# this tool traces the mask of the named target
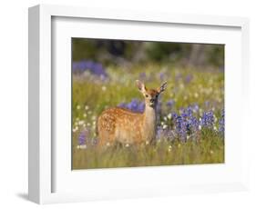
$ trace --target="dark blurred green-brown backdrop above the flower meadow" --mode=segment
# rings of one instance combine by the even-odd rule
[[[148,62],[194,66],[224,67],[224,45],[95,40],[73,38],[73,61],[91,60],[102,65],[147,64]]]

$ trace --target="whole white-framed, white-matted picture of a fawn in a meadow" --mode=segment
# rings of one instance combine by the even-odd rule
[[[242,17],[29,8],[29,199],[246,190],[248,30]]]

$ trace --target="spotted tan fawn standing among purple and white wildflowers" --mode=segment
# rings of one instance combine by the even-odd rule
[[[97,118],[99,144],[140,144],[151,143],[156,137],[158,96],[165,91],[167,82],[157,89],[147,89],[136,81],[138,90],[145,98],[144,113],[135,113],[121,107],[103,111]]]

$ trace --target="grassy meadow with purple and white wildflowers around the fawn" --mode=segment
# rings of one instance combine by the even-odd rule
[[[224,71],[159,64],[73,63],[72,169],[224,163]],[[108,107],[143,112],[135,81],[167,81],[159,97],[154,144],[97,146],[97,116]]]

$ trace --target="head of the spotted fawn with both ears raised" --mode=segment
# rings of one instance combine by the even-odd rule
[[[148,89],[141,81],[136,81],[138,90],[145,98],[145,105],[155,108],[158,104],[159,94],[166,90],[167,82],[164,82],[157,89]]]

